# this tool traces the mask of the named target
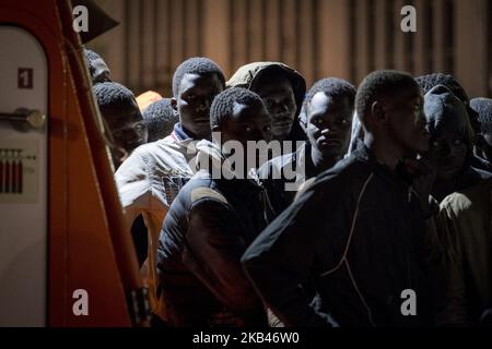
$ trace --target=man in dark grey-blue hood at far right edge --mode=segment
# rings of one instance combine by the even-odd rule
[[[435,151],[447,143],[447,152],[442,155],[441,164],[447,161],[448,170],[438,169],[441,178],[447,177],[447,188],[441,179],[438,189],[447,189],[443,194],[449,195],[441,203],[441,215],[436,220],[436,228],[440,230],[441,240],[446,243],[447,289],[453,291],[453,301],[445,304],[441,317],[452,321],[453,325],[487,323],[490,326],[492,179],[489,172],[470,166],[471,145],[470,141],[464,136],[466,134],[464,132],[466,123],[462,121],[466,120],[465,108],[448,91],[440,87],[433,88],[425,95],[425,109],[429,109],[431,135],[435,134],[434,137],[437,141],[434,145]],[[483,147],[490,135],[488,130],[490,120],[483,118],[483,109],[477,108],[477,99],[475,103],[472,100],[471,106],[479,112],[482,125],[477,145]],[[485,152],[482,148],[482,155]]]

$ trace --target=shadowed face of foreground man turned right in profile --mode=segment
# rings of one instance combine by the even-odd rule
[[[391,97],[383,98],[390,136],[403,154],[425,154],[430,134],[423,111],[423,96],[418,86],[409,86]]]

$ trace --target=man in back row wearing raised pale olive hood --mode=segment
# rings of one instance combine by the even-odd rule
[[[226,85],[250,89],[261,97],[271,116],[273,140],[306,141],[298,123],[306,82],[298,72],[280,62],[254,62],[241,67]]]

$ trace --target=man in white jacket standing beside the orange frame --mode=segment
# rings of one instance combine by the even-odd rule
[[[196,144],[210,137],[210,105],[224,87],[224,75],[210,59],[184,61],[173,76],[171,104],[179,116],[173,133],[137,148],[115,174],[128,226],[142,215],[149,231],[142,274],[149,284],[152,311],[162,320],[166,320],[166,312],[165,304],[157,301],[155,270],[159,232],[173,200],[195,172],[189,163],[196,156]]]

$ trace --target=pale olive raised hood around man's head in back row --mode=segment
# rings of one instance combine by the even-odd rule
[[[281,62],[254,62],[241,67],[234,75],[227,81],[227,87],[244,87],[250,91],[255,91],[258,81],[266,72],[279,71],[281,74],[285,74],[292,84],[294,91],[295,103],[297,105],[297,111],[295,113],[298,117],[306,94],[306,81],[294,69]]]

